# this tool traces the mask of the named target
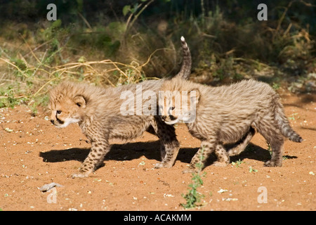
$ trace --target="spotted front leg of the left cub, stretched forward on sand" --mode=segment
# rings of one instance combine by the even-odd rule
[[[72,174],[75,177],[87,177],[103,164],[103,158],[110,151],[110,144],[106,140],[91,141],[91,150],[88,157],[79,167],[79,173]]]

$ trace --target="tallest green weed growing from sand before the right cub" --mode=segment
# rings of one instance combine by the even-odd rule
[[[189,184],[190,189],[187,191],[185,195],[182,194],[182,197],[186,200],[186,203],[181,203],[180,205],[185,209],[191,209],[202,205],[197,203],[201,202],[202,198],[204,198],[204,195],[202,193],[199,193],[197,191],[197,188],[203,185],[202,178],[206,175],[206,172],[201,174],[202,169],[204,167],[202,163],[202,160],[204,158],[203,152],[204,148],[202,148],[201,150],[199,162],[195,165],[195,167],[197,167],[197,172],[192,173],[192,183]]]

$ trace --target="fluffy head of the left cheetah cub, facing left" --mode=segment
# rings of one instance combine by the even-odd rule
[[[51,90],[48,108],[51,110],[51,123],[63,128],[81,121],[86,99],[79,94],[76,84],[63,82]]]

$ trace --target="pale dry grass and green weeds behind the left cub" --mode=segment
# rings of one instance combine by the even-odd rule
[[[28,44],[26,45],[29,50],[27,58],[23,57],[21,53],[15,58],[11,58],[8,54],[1,54],[0,68],[4,71],[0,84],[2,95],[0,105],[2,107],[13,106],[19,103],[19,99],[29,101],[34,98],[45,98],[51,86],[65,79],[100,86],[118,86],[138,83],[144,79],[157,79],[156,77],[145,77],[143,68],[150,63],[154,53],[165,50],[157,49],[152,52],[141,65],[135,61],[125,64],[110,59],[87,61],[81,57],[78,62],[53,66],[45,63],[47,51],[34,53],[32,48]],[[45,103],[45,100],[41,103]]]

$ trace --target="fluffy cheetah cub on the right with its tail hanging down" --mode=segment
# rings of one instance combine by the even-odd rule
[[[290,127],[278,94],[268,85],[243,80],[230,86],[204,86],[176,77],[164,82],[159,92],[159,115],[166,124],[185,122],[192,136],[201,140],[201,148],[192,158],[195,171],[203,150],[203,163],[215,151],[216,166],[228,165],[230,155],[238,155],[255,134],[255,129],[270,143],[271,160],[265,166],[282,166],[283,136],[301,142]],[[223,143],[237,143],[223,148]]]

